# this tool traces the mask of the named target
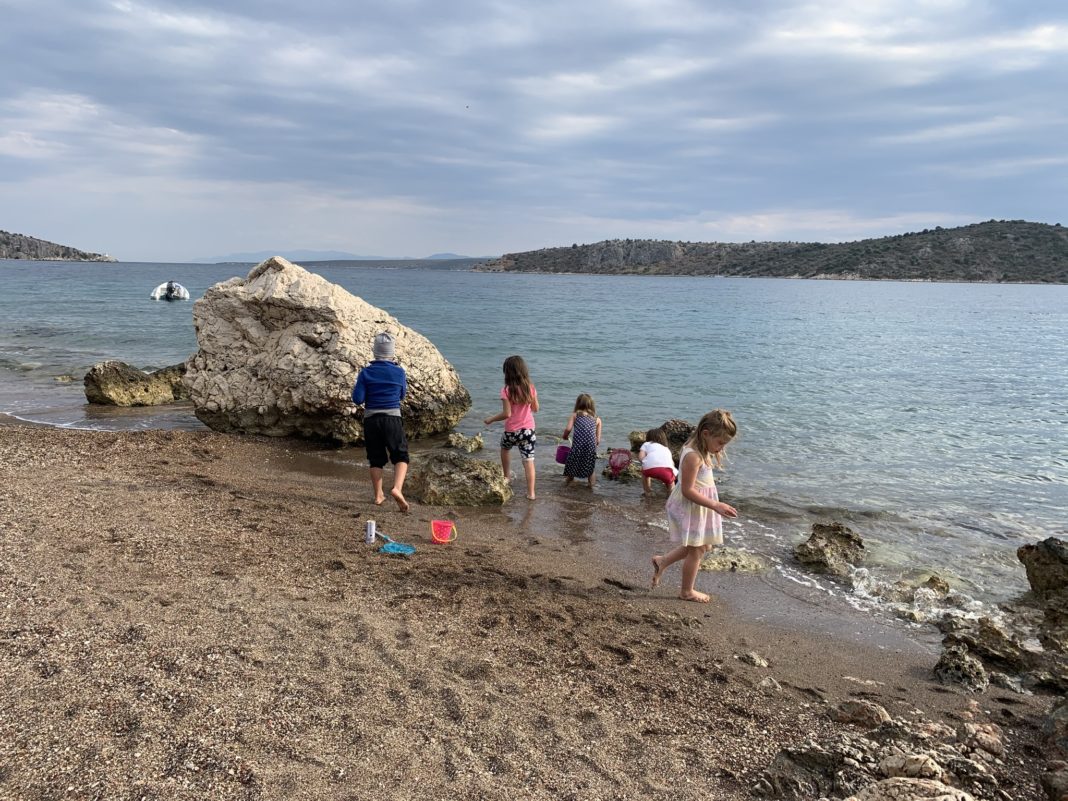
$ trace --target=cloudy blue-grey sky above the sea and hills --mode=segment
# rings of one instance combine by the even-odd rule
[[[123,261],[1068,223],[1068,5],[0,0],[0,230]]]

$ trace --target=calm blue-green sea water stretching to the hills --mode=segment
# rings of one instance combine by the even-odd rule
[[[376,263],[310,268],[429,337],[474,405],[499,409],[501,362],[538,387],[539,471],[554,470],[575,396],[606,444],[670,418],[731,409],[721,487],[734,533],[785,552],[842,520],[885,580],[934,568],[984,600],[1025,588],[1020,545],[1068,535],[1068,286],[524,276]],[[200,427],[185,407],[84,404],[81,377],[121,359],[158,367],[197,349],[191,303],[245,265],[0,261],[0,411],[79,427]],[[73,380],[69,380],[73,377]],[[500,427],[487,431],[492,444]],[[543,482],[548,478],[544,478]],[[634,488],[598,485],[626,511]]]

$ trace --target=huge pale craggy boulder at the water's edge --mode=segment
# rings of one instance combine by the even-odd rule
[[[380,331],[393,334],[408,374],[410,437],[449,430],[471,406],[429,340],[278,256],[210,287],[193,304],[193,324],[200,349],[185,381],[197,417],[216,430],[362,442],[351,390]]]

